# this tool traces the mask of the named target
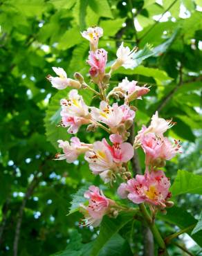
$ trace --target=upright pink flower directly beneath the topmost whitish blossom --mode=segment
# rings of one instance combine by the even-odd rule
[[[102,78],[107,63],[107,51],[104,49],[98,49],[95,52],[90,51],[87,63],[91,66],[90,74],[92,76],[97,76],[99,74]]]

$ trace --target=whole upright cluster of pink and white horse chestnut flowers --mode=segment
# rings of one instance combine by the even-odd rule
[[[107,51],[98,48],[99,39],[103,35],[102,28],[88,28],[81,35],[90,43],[86,63],[90,66],[91,82],[98,90],[86,84],[80,73],[74,74],[75,79],[68,78],[63,68],[53,67],[57,77],[48,75],[47,79],[56,89],[73,88],[69,91],[68,98],[60,100],[60,124],[67,127],[69,134],[77,134],[82,125],[87,125],[86,131],[95,131],[100,127],[109,133],[109,138],[102,138],[93,144],[83,143],[77,137],[72,137],[70,142],[58,140],[63,154],[56,154],[55,160],[66,159],[67,163],[73,163],[80,154],[84,154],[89,169],[93,174],[100,175],[104,183],[112,184],[122,179],[118,188],[120,198],[129,199],[136,204],[147,203],[153,209],[162,210],[172,203],[168,201],[171,197],[170,182],[160,167],[164,167],[165,161],[176,156],[180,149],[177,140],[172,143],[164,135],[174,122],[159,118],[156,112],[149,127],[143,126],[138,131],[134,145],[127,142],[129,128],[134,123],[137,110],[131,102],[141,99],[150,90],[146,85],[139,86],[137,81],[129,81],[127,77],[109,90],[109,81],[113,71],[120,66],[134,68],[138,49],[130,50],[122,43],[116,53],[117,59],[111,65],[109,73],[106,73]],[[100,106],[88,106],[78,90],[93,91],[100,98]],[[112,98],[118,102],[114,102]],[[145,152],[145,174],[132,178],[128,162],[133,158],[137,147]],[[105,214],[116,217],[123,209],[94,185],[89,187],[84,197],[89,201],[88,204],[80,205],[80,211],[85,216],[85,226],[98,226]]]

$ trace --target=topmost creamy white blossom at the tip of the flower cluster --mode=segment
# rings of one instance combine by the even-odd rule
[[[88,28],[86,31],[83,31],[82,37],[86,38],[90,42],[91,51],[95,51],[98,48],[99,38],[103,35],[103,29],[100,27]]]

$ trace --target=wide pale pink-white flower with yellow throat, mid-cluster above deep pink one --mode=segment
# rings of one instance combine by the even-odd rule
[[[127,104],[119,107],[118,103],[114,103],[110,106],[107,102],[102,101],[100,102],[100,109],[91,108],[91,116],[94,120],[108,125],[111,131],[116,133],[118,125],[125,123],[126,120],[133,121],[135,112]]]

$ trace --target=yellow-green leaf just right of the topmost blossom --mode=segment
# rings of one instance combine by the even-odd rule
[[[122,28],[122,24],[125,22],[125,19],[126,18],[100,21],[100,27],[103,28],[104,35],[116,35],[116,33],[118,33],[118,30]]]

